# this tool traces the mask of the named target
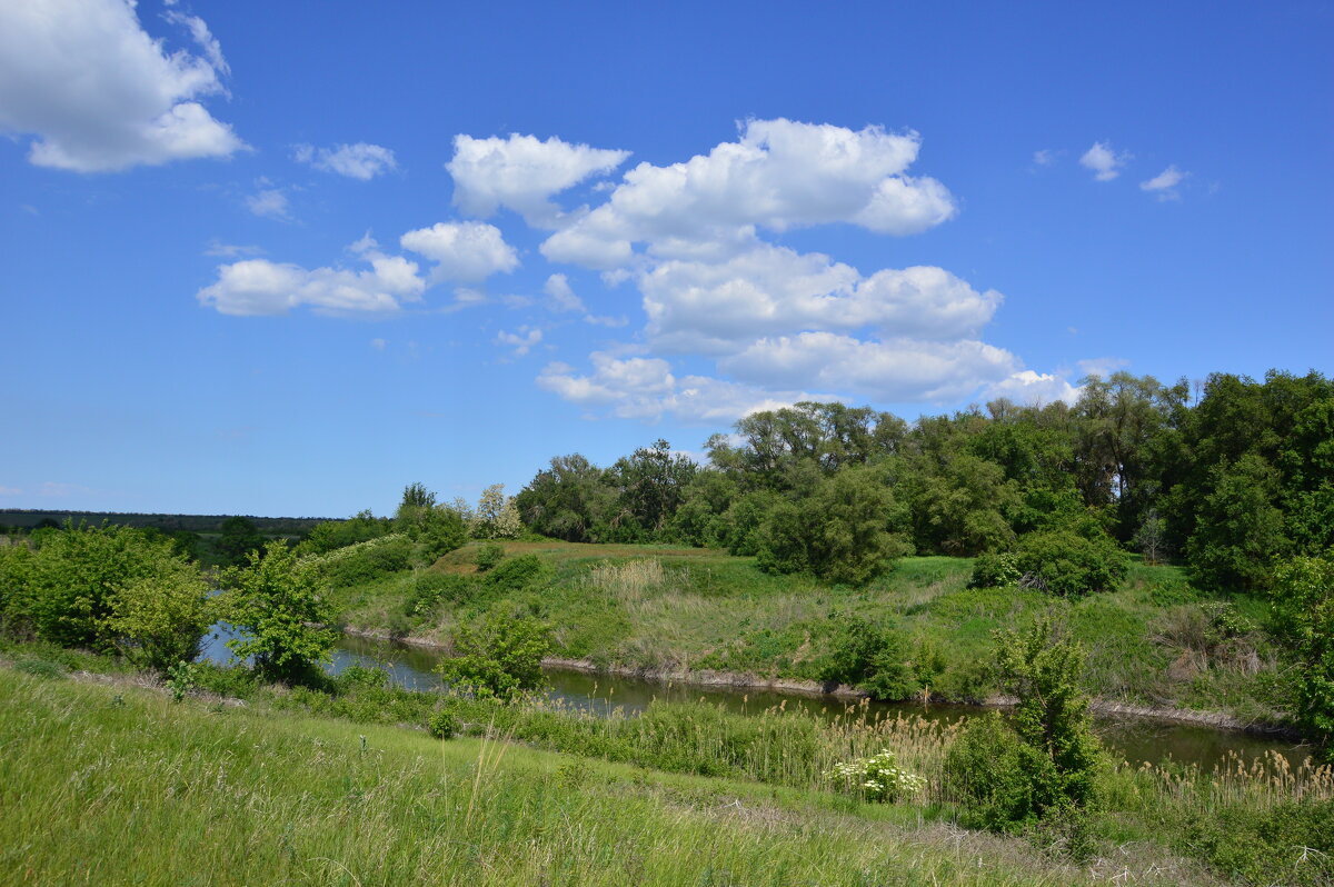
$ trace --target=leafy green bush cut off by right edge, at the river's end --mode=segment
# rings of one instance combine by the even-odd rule
[[[1274,568],[1274,628],[1298,663],[1297,714],[1325,742],[1334,740],[1334,550]]]

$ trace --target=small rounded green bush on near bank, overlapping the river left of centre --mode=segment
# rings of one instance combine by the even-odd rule
[[[544,623],[492,611],[456,628],[454,658],[442,660],[436,671],[476,696],[508,700],[544,684],[542,659],[550,650],[551,631]]]

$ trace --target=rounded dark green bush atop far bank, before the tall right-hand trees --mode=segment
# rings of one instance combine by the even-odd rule
[[[1014,556],[1022,584],[1057,595],[1114,591],[1130,570],[1126,552],[1105,534],[1034,532],[1019,539]]]

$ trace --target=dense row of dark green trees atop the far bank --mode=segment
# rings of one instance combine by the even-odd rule
[[[799,403],[707,452],[696,466],[658,440],[606,470],[558,456],[515,503],[570,542],[720,547],[854,584],[904,552],[1014,551],[1079,594],[1114,584],[1129,548],[1251,590],[1277,556],[1334,546],[1334,381],[1317,372],[1195,388],[1119,372],[1086,379],[1074,405],[996,400],[912,424]]]

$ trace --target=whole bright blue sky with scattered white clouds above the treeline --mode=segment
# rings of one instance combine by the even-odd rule
[[[0,8],[0,507],[1334,372],[1334,7]]]

